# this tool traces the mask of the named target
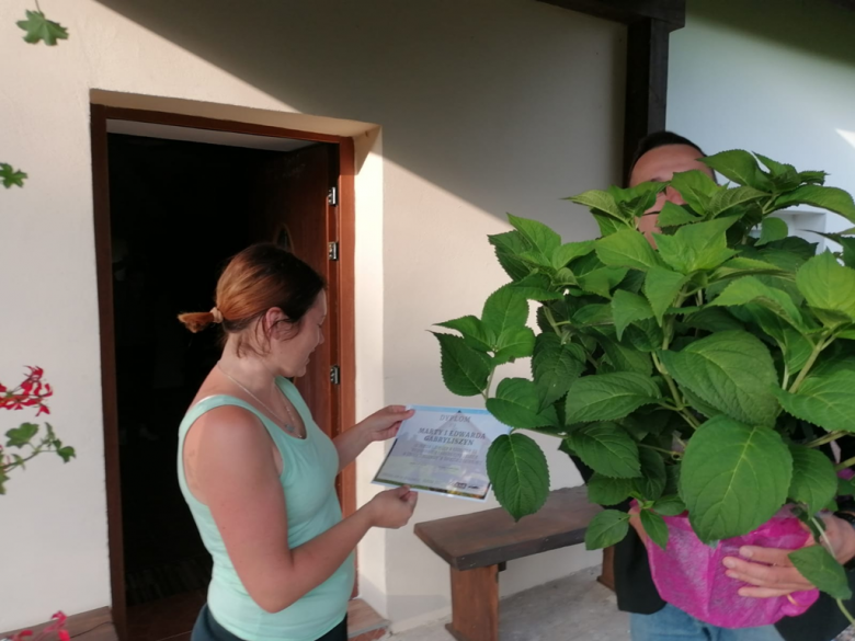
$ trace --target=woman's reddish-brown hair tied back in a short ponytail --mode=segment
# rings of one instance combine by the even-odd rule
[[[269,309],[281,309],[296,328],[324,287],[323,277],[289,251],[273,243],[253,244],[226,265],[214,309],[178,318],[194,333],[214,323],[221,323],[226,334],[255,325],[269,341],[272,328],[263,323]]]

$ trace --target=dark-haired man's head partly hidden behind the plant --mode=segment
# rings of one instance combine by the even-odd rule
[[[666,182],[675,173],[697,169],[716,180],[711,169],[700,162],[705,153],[700,148],[683,136],[671,131],[657,131],[641,139],[629,169],[628,183],[634,187],[645,182]],[[657,197],[656,204],[638,220],[638,229],[648,238],[659,231],[657,218],[665,202],[684,205],[685,201],[673,187],[668,187]]]

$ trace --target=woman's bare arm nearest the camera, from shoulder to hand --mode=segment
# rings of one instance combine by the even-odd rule
[[[263,425],[232,408],[214,410],[197,423],[203,421],[194,426],[204,430],[195,481],[238,576],[266,611],[285,609],[331,576],[371,527],[401,527],[412,515],[414,493],[407,488],[383,492],[326,533],[289,549],[285,496]]]

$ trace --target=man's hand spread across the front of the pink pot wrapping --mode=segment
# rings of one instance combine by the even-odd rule
[[[855,529],[831,514],[823,516],[822,520],[837,561],[847,563],[855,558]],[[806,545],[816,545],[813,537],[808,537]],[[740,588],[741,596],[770,598],[813,590],[814,585],[793,566],[790,552],[793,550],[743,546],[739,550],[741,559],[726,557],[722,562],[728,576],[750,584]]]

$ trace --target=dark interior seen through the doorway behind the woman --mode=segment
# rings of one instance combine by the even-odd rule
[[[219,357],[219,333],[190,334],[175,317],[210,309],[225,262],[252,242],[282,243],[327,272],[335,150],[327,144],[285,152],[109,136],[130,641],[166,638],[169,630],[145,633],[152,604],[192,595],[182,603],[197,611],[210,575],[179,490],[175,456],[179,423]],[[334,307],[330,300],[330,316]],[[297,381],[327,432],[335,412],[329,382],[334,347],[324,344],[312,369]],[[135,617],[144,605],[145,616]]]

